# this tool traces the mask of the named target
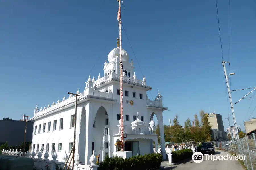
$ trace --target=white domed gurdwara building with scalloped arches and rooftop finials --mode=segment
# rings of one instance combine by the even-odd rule
[[[113,156],[119,151],[117,145],[121,140],[120,115],[120,48],[114,48],[108,54],[108,63],[104,63],[104,75],[100,73],[97,80],[89,76],[85,90],[77,91],[77,124],[75,161],[90,165],[89,159],[93,150],[100,154],[99,160],[106,155]],[[161,149],[165,150],[162,96],[160,93],[154,101],[148,99],[146,92],[152,90],[143,80],[137,79],[134,64],[125,50],[122,49],[123,64],[123,124],[125,151],[133,155],[153,153],[153,141],[158,149],[156,124],[152,117],[156,115],[160,130]],[[56,151],[61,160],[73,147],[75,126],[76,97],[64,96],[63,100],[53,102],[43,109],[36,109],[34,121],[32,151],[49,153],[49,158]],[[157,151],[157,150],[156,150]],[[163,159],[166,153],[162,152]],[[65,156],[64,156],[65,157]]]

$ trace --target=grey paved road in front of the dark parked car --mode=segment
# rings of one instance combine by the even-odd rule
[[[215,155],[227,155],[228,152],[217,152]],[[163,162],[162,166],[166,170],[174,169],[174,170],[184,170],[184,169],[189,169],[189,170],[218,170],[218,169],[225,169],[225,170],[244,170],[243,167],[240,165],[240,163],[236,160],[206,160],[206,156],[204,156],[204,160],[201,163],[195,163],[192,160],[179,163],[176,165],[167,165],[166,163],[168,162]]]

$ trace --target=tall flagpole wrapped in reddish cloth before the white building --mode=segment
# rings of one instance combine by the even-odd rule
[[[117,20],[119,24],[119,40],[120,40],[120,108],[121,108],[121,151],[123,151],[123,68],[122,68],[122,41],[121,41],[121,0],[117,0],[119,9]]]

